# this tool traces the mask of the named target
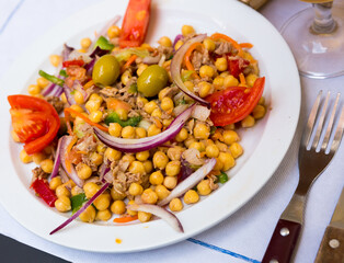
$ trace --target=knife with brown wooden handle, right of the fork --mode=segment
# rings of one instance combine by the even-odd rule
[[[344,187],[314,263],[344,263]]]

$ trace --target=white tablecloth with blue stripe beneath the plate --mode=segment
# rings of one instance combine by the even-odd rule
[[[95,2],[94,0],[1,0],[0,78],[8,66],[36,37],[80,8]],[[289,16],[308,7],[308,3],[296,0],[271,0],[260,12],[279,28]],[[288,78],[288,72],[285,75]],[[131,254],[77,251],[33,235],[11,218],[1,205],[0,232],[72,262],[260,262],[278,217],[288,204],[298,182],[298,142],[312,102],[320,89],[334,92],[343,90],[343,77],[330,80],[301,78],[302,106],[299,127],[280,167],[246,205],[218,226],[194,239],[158,250]],[[332,164],[312,186],[295,262],[313,262],[316,258],[323,231],[343,187],[343,158],[344,152],[341,147]]]

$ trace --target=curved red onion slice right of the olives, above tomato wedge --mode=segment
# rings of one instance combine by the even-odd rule
[[[172,61],[171,61],[171,77],[173,82],[183,91],[186,95],[194,99],[195,101],[199,102],[203,105],[210,106],[209,102],[200,99],[195,93],[191,92],[184,84],[182,77],[181,77],[181,68],[184,60],[185,53],[190,48],[190,46],[196,42],[202,42],[206,38],[206,34],[202,34],[188,39],[183,46],[181,46],[177,52],[174,54]]]

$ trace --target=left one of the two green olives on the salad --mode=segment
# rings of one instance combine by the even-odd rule
[[[95,84],[111,85],[119,76],[119,64],[112,55],[102,56],[93,67],[92,79]]]

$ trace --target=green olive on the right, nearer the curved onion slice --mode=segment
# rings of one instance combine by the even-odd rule
[[[158,65],[149,66],[137,79],[137,90],[145,96],[154,96],[167,87],[169,75]]]

